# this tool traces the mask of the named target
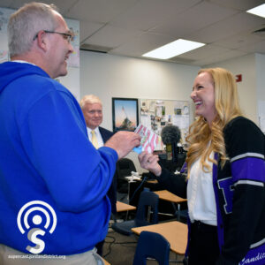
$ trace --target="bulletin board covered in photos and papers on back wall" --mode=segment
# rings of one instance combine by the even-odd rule
[[[186,145],[190,125],[188,101],[140,99],[140,124],[161,135],[166,125],[176,125],[181,131],[181,144]]]

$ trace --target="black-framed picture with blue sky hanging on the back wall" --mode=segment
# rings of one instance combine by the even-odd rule
[[[139,124],[138,99],[112,97],[113,132],[133,132]]]

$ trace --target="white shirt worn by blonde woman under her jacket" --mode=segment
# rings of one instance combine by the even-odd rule
[[[214,158],[214,152],[210,158]],[[213,186],[213,163],[208,161],[210,172],[201,168],[200,158],[191,167],[191,174],[187,185],[187,201],[191,222],[201,221],[210,225],[217,225],[216,197]]]

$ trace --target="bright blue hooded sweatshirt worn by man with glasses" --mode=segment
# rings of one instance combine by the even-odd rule
[[[33,64],[0,64],[1,244],[28,253],[40,239],[41,254],[92,249],[107,234],[116,162],[115,150],[90,143],[64,86]],[[34,229],[43,231],[35,239]]]

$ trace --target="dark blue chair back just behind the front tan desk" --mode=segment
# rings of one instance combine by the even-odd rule
[[[155,193],[145,190],[140,193],[135,216],[136,226],[158,223],[158,201],[159,196]],[[150,215],[151,212],[152,215]],[[150,218],[149,220],[148,217]]]

